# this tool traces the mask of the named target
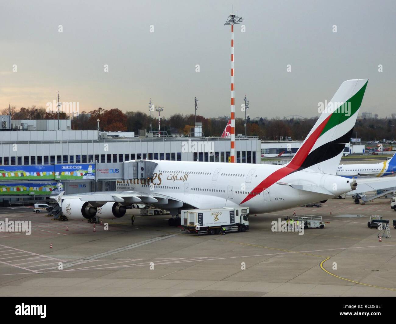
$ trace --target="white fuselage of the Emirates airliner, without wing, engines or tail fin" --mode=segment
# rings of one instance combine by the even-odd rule
[[[330,174],[305,170],[274,176],[274,172],[284,168],[279,165],[154,162],[158,165],[150,180],[118,180],[117,191],[160,194],[200,209],[245,206],[253,213],[287,209],[331,197],[329,194],[295,189],[289,184],[320,186],[334,195],[350,191],[346,178]],[[264,191],[258,189],[253,197],[249,196],[251,198],[244,201],[267,177],[279,179]]]

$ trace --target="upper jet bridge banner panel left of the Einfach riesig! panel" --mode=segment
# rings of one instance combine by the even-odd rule
[[[53,165],[1,165],[1,180],[54,180]]]

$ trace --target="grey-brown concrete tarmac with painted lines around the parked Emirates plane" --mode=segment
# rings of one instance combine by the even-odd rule
[[[396,229],[379,242],[367,227],[370,215],[396,219],[390,199],[298,207],[326,227],[271,230],[293,212],[251,215],[245,233],[195,235],[137,210],[94,232],[86,220],[3,207],[0,221],[31,220],[32,233],[0,232],[0,296],[396,296]]]

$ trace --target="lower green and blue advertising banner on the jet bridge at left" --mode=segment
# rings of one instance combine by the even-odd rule
[[[57,182],[0,183],[2,195],[57,195],[60,191]]]

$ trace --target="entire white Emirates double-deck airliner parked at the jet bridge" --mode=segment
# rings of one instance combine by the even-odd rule
[[[366,86],[367,79],[343,82],[326,107],[333,109],[322,112],[286,165],[145,160],[149,177],[117,180],[112,192],[61,193],[54,199],[65,216],[79,220],[119,218],[128,205],[145,203],[169,210],[175,216],[170,225],[188,208],[244,206],[258,214],[325,201],[356,189],[360,181],[336,173]]]

